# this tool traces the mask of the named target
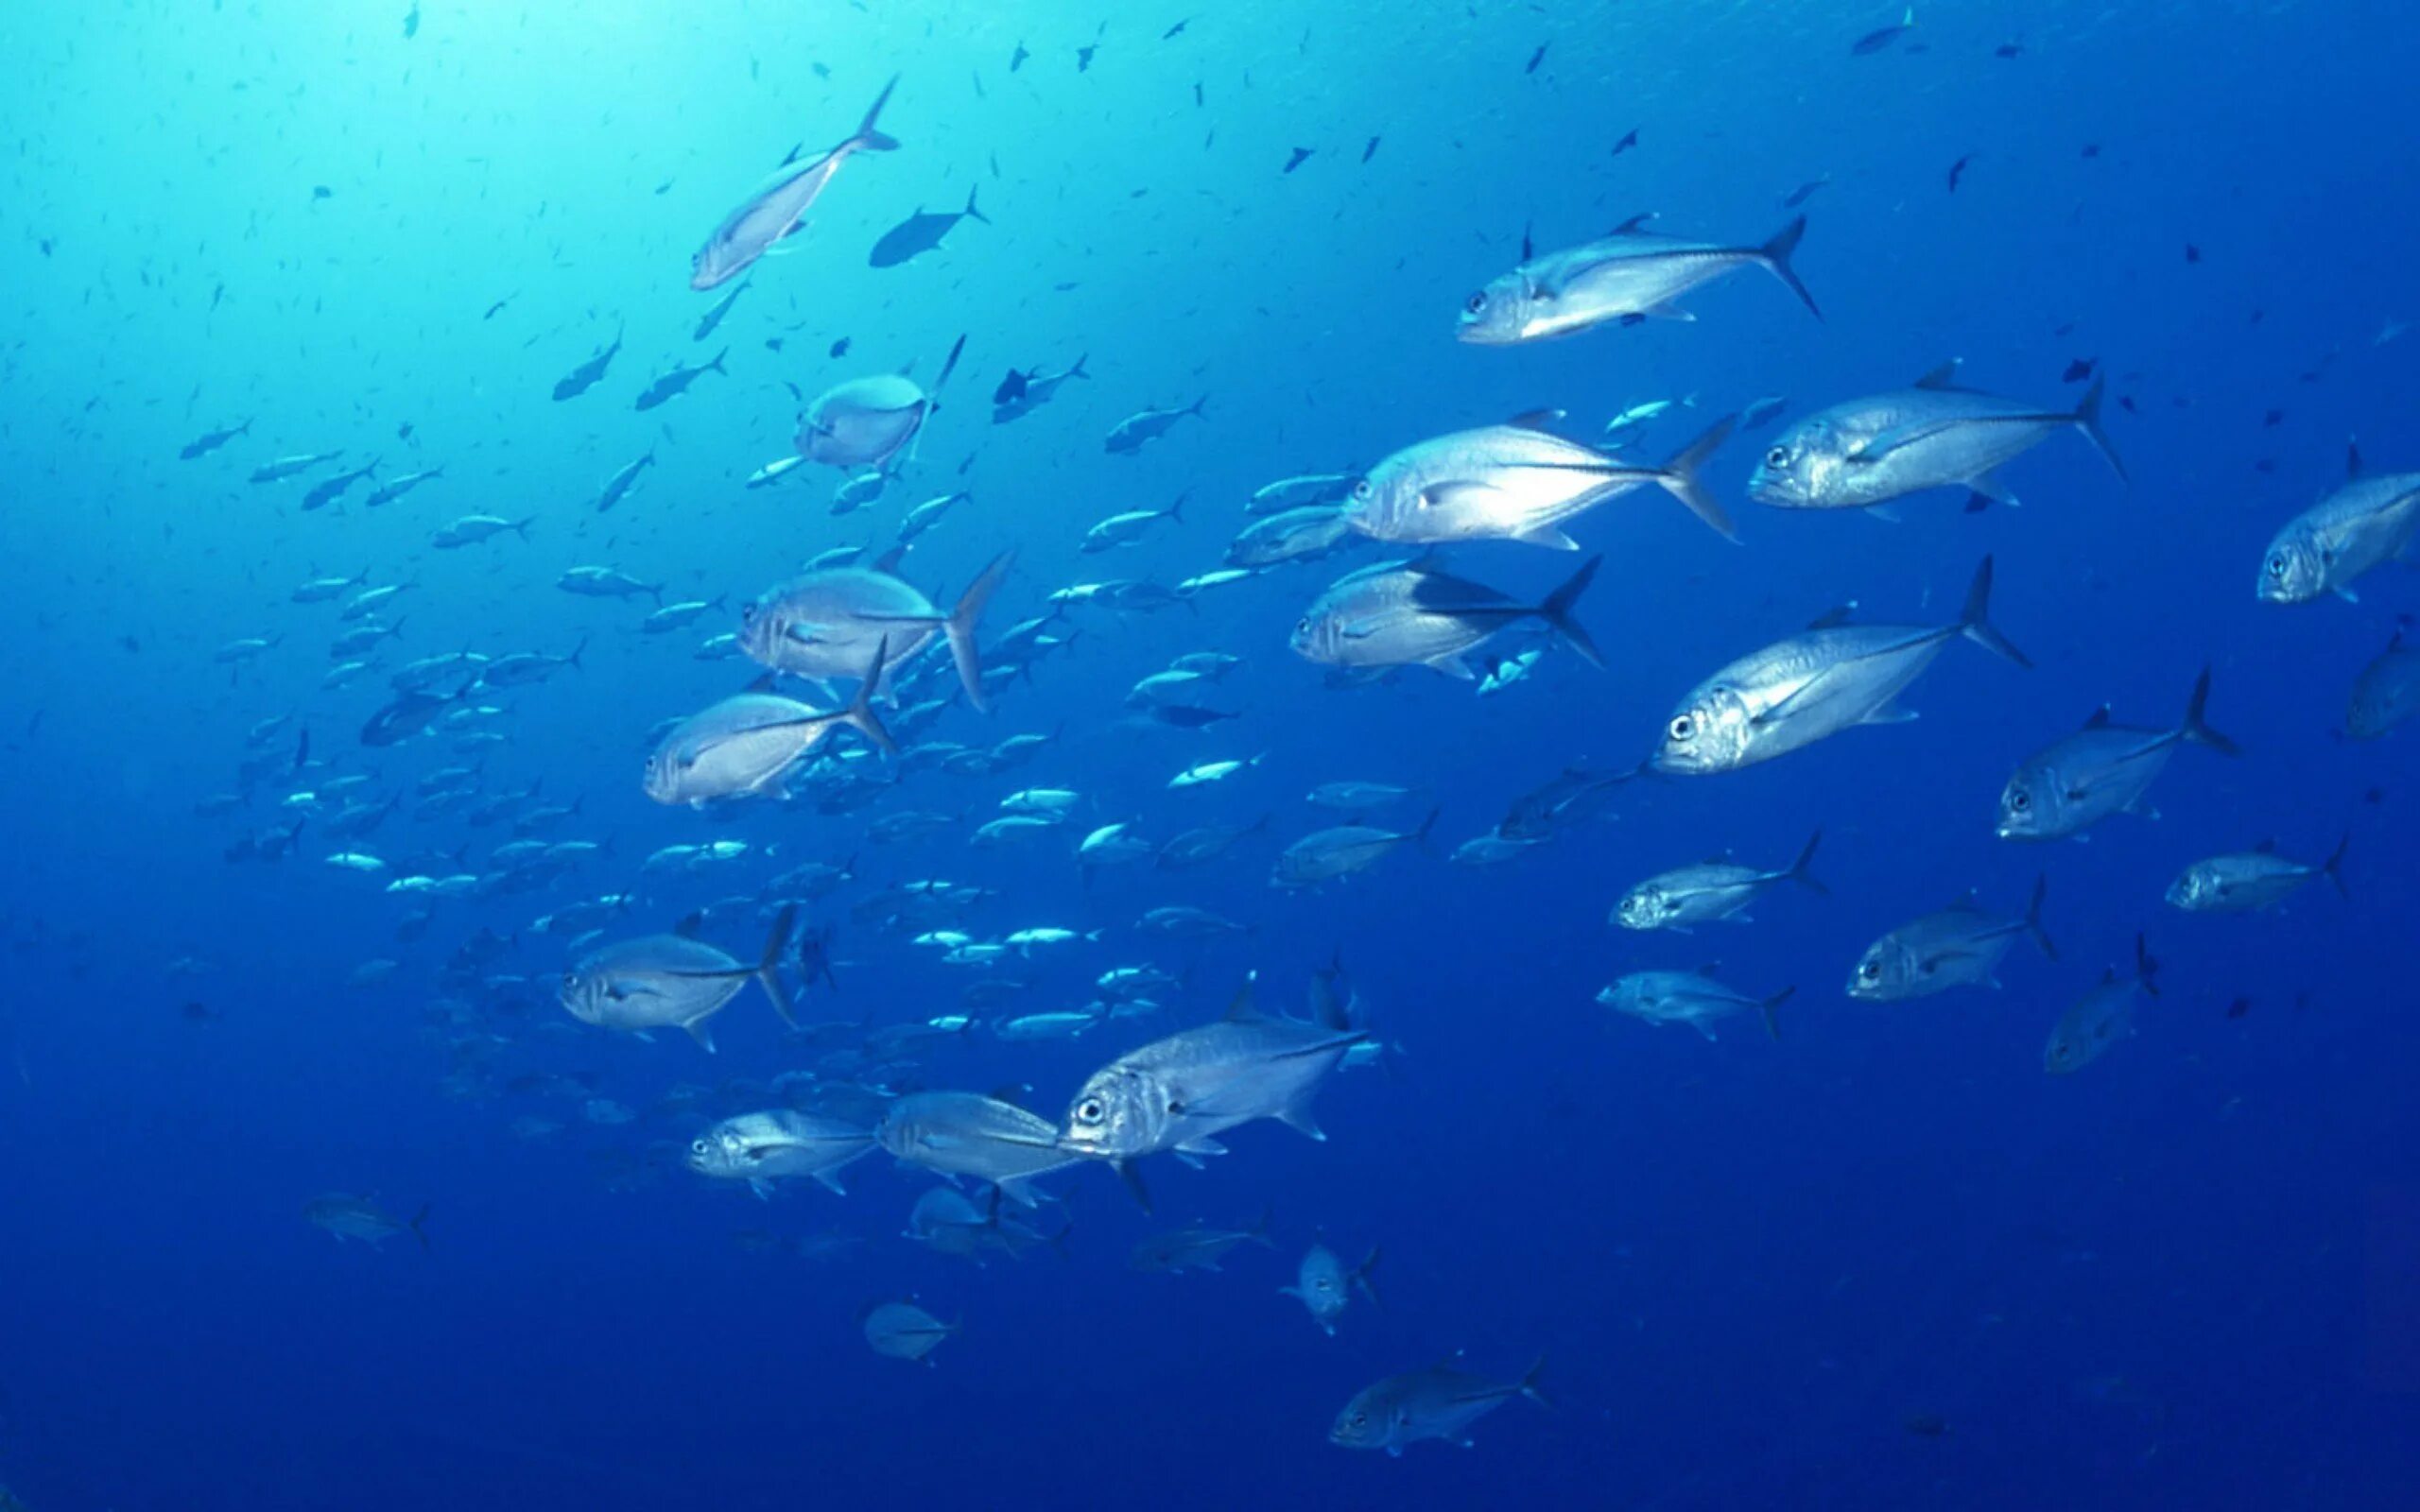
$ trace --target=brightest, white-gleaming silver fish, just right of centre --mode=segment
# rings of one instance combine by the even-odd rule
[[[1578,552],[1563,525],[1631,489],[1658,486],[1733,539],[1730,518],[1706,494],[1699,469],[1730,435],[1718,419],[1663,467],[1631,467],[1546,426],[1561,411],[1532,411],[1505,426],[1454,431],[1382,457],[1353,484],[1346,520],[1396,544],[1515,539]]]

